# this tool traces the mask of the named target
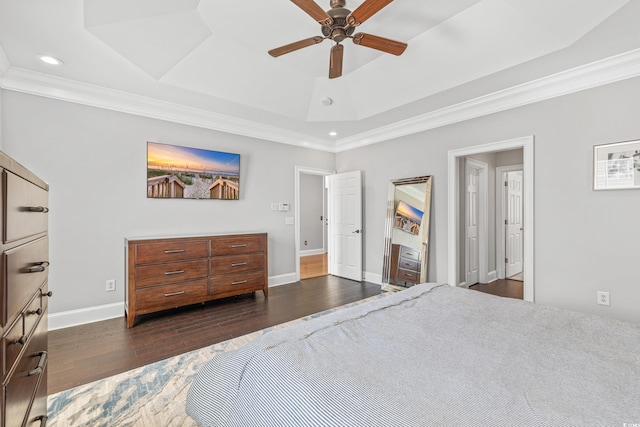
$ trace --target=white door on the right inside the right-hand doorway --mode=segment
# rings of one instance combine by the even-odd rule
[[[522,171],[507,172],[507,224],[505,271],[511,277],[522,273]]]

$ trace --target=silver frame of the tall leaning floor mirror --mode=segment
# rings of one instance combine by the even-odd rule
[[[396,188],[402,185],[409,184],[421,184],[425,183],[425,199],[423,212],[426,218],[423,218],[421,228],[423,229],[422,250],[420,258],[420,280],[418,283],[424,283],[427,281],[427,269],[429,258],[429,227],[431,224],[431,188],[433,186],[433,176],[417,176],[413,178],[394,179],[389,181],[389,192],[387,198],[387,222],[385,224],[385,241],[384,241],[384,264],[382,268],[382,283],[395,285],[391,278],[391,262],[392,262],[392,237],[393,237],[393,223],[396,210]],[[400,285],[402,286],[402,285]]]

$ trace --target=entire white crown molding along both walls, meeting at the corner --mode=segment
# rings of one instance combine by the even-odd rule
[[[8,60],[6,62],[3,65],[0,59],[0,76],[2,67],[7,68],[8,65],[8,70],[0,79],[0,88],[3,89],[334,153],[640,76],[640,49],[634,49],[333,141],[198,108],[11,67]]]

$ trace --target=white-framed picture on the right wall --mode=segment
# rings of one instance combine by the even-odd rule
[[[593,189],[640,188],[640,140],[593,146]]]

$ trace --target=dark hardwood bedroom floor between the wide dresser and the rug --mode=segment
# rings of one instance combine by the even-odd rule
[[[318,313],[380,293],[380,286],[334,276],[140,316],[49,332],[49,394],[125,372],[187,351]]]

